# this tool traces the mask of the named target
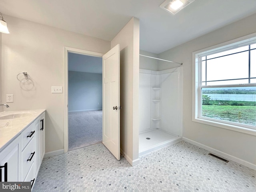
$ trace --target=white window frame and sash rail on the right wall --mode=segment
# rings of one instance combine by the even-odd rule
[[[225,128],[229,130],[234,130],[238,132],[243,132],[246,134],[256,135],[256,126],[247,126],[236,124],[233,122],[226,122],[221,120],[216,120],[213,118],[205,118],[200,116],[201,114],[201,88],[208,87],[208,86],[201,86],[200,82],[202,81],[202,73],[201,73],[201,61],[200,59],[203,56],[209,54],[215,54],[219,52],[223,52],[226,50],[231,50],[237,47],[246,46],[249,44],[256,43],[256,33],[237,38],[228,42],[224,42],[215,46],[211,46],[209,48],[205,48],[202,50],[198,50],[192,53],[192,70],[193,70],[193,95],[192,95],[192,121],[207,124],[211,126],[216,126],[220,128]],[[239,84],[239,85],[222,85],[222,86],[210,86],[214,87],[232,87],[232,86],[256,86],[256,84]]]

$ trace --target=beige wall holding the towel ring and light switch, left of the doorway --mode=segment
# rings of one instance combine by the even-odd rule
[[[46,152],[63,150],[67,90],[52,94],[51,86],[64,84],[64,46],[106,53],[110,42],[11,16],[4,19],[10,34],[2,34],[2,98],[14,95],[4,110],[46,109]],[[20,72],[28,72],[31,80],[19,82]]]

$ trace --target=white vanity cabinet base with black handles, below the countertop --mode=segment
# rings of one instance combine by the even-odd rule
[[[31,182],[33,186],[45,153],[44,125],[42,112],[12,142],[0,148],[0,182]]]

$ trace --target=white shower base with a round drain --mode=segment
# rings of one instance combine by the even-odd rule
[[[149,140],[146,138],[150,138]],[[144,131],[139,134],[139,156],[158,150],[170,144],[181,141],[182,137],[170,134],[160,129]]]

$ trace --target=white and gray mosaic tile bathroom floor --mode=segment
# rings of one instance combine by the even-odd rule
[[[134,167],[103,144],[44,158],[33,192],[255,192],[256,171],[180,141]]]

